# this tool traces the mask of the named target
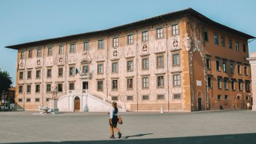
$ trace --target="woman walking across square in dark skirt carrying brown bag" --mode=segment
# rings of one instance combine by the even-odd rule
[[[110,118],[109,118],[109,124],[110,124],[110,139],[115,139],[114,136],[114,129],[118,133],[118,138],[120,139],[122,134],[120,133],[119,129],[117,128],[117,122],[119,120],[118,118],[118,108],[117,108],[117,102],[112,103],[113,108],[110,109]]]

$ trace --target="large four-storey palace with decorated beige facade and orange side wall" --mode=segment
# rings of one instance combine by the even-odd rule
[[[6,46],[18,50],[17,108],[56,88],[59,110],[195,111],[250,100],[247,40],[189,8],[117,26]]]

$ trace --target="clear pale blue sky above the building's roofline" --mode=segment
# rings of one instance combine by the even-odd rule
[[[9,71],[15,83],[17,50],[7,45],[102,30],[188,7],[256,36],[255,0],[1,0],[0,69]],[[249,52],[254,51],[256,40],[249,43]]]

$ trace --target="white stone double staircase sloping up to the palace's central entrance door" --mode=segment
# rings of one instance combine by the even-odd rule
[[[84,98],[86,98],[86,96],[88,98],[91,98],[91,100],[95,100],[96,102],[100,102],[103,105],[106,105],[108,108],[106,108],[106,110],[108,110],[109,108],[112,107],[112,103],[114,102],[113,100],[108,100],[108,98],[106,98],[106,96],[102,96],[102,94],[98,94],[96,92],[92,92],[88,89],[79,89],[79,90],[69,90],[68,94],[62,94],[60,96],[58,96],[58,105],[61,104],[61,102],[65,101],[65,98],[69,97],[69,96],[83,96]],[[126,106],[124,102],[117,102],[117,107],[119,108],[119,111],[126,111]],[[90,108],[89,108],[90,109]]]

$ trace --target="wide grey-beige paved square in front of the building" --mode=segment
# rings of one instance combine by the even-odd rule
[[[248,110],[126,112],[113,140],[106,112],[34,113],[0,112],[0,143],[256,143]]]

